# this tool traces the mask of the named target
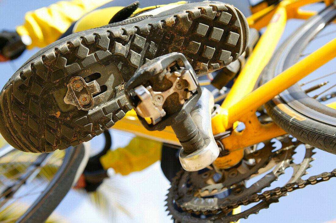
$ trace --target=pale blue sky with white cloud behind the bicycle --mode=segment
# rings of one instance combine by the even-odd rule
[[[15,25],[23,22],[24,13],[54,3],[53,0],[0,0],[0,30],[14,30]],[[285,30],[285,36],[290,35],[300,21],[290,22]],[[284,40],[284,38],[282,38]],[[15,70],[23,64],[37,49],[26,51],[19,59],[11,62],[0,63],[1,79],[3,86]],[[122,134],[116,131],[114,134],[115,145],[122,146],[130,140],[130,134]],[[316,158],[308,170],[309,175],[320,174],[324,171],[332,171],[336,168],[336,156],[321,150],[315,150]],[[299,155],[298,155],[299,156]],[[297,157],[299,158],[299,157]],[[117,176],[115,184],[124,188],[124,197],[120,197],[133,218],[120,217],[118,222],[172,222],[164,212],[164,195],[169,187],[168,181],[161,173],[159,163],[127,177]],[[280,182],[284,181],[282,177]],[[251,215],[247,222],[326,222],[336,219],[334,207],[336,204],[335,179],[313,186],[307,186],[291,192],[289,196],[280,199],[279,203],[272,204],[270,208],[261,210],[258,215]],[[135,186],[136,185],[136,186]],[[151,192],[149,192],[151,191]],[[69,217],[70,222],[103,222],[101,215],[92,208],[88,201],[75,191],[71,191],[66,199],[57,208],[57,213]],[[105,220],[105,222],[108,222]]]

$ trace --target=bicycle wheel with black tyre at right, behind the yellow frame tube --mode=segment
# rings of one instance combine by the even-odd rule
[[[305,51],[308,48],[311,50],[313,42],[320,46],[327,43],[326,40],[321,41],[318,37],[328,36],[327,34],[329,34],[331,39],[335,38],[336,26],[335,23],[331,23],[335,17],[336,6],[331,4],[317,15],[309,18],[282,44],[272,57],[261,74],[261,83],[267,82],[306,56]],[[331,28],[332,31],[328,30],[326,32],[327,28]],[[308,44],[309,47],[307,47]],[[333,63],[335,63],[335,58],[324,66],[330,66],[330,69],[335,69]],[[306,78],[310,77],[310,79],[316,81],[322,81],[323,78],[329,79],[330,75],[321,73],[322,69],[319,68]],[[318,78],[315,76],[317,74],[319,75]],[[333,88],[336,87],[336,79],[335,77],[333,79],[334,81],[331,85],[328,84],[328,86],[325,85],[324,87],[316,86],[316,83],[319,82],[315,81],[314,83],[313,80],[308,81],[309,85],[298,82],[266,103],[265,108],[270,117],[281,128],[298,138],[298,140],[329,153],[336,154],[336,110],[327,107],[326,103],[321,103],[323,98],[327,97],[327,93],[332,94],[330,92],[335,90]],[[312,91],[314,88],[307,89],[307,86],[314,85],[318,93]],[[323,96],[322,94],[327,95]]]

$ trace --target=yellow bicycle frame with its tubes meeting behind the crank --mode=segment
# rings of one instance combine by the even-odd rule
[[[225,150],[230,153],[227,156],[217,158],[215,165],[218,168],[226,168],[238,163],[244,155],[243,148],[285,134],[286,132],[273,122],[261,124],[255,115],[256,110],[312,71],[336,57],[335,38],[254,90],[262,69],[270,60],[280,40],[286,21],[290,18],[307,19],[316,14],[314,11],[300,9],[301,6],[315,2],[320,1],[284,0],[277,5],[268,6],[247,18],[250,27],[257,30],[266,25],[267,27],[221,105],[221,112],[212,118],[213,134],[224,132],[227,129],[235,129],[238,121],[245,124],[245,129],[242,132],[233,130],[230,136],[221,140]],[[331,1],[326,0],[325,3],[328,5]],[[279,106],[286,109],[285,106]],[[336,108],[336,103],[328,106]],[[163,131],[148,131],[137,120],[136,113],[133,110],[128,112],[125,118],[117,122],[114,128],[157,141],[179,145],[171,127],[166,127]]]

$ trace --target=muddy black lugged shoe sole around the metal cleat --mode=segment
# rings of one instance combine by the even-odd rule
[[[124,84],[143,63],[181,52],[201,75],[236,60],[247,40],[245,17],[221,2],[183,4],[133,24],[72,34],[37,52],[6,83],[0,94],[0,132],[25,152],[77,146],[132,109]],[[64,103],[74,76],[98,82],[93,109]]]

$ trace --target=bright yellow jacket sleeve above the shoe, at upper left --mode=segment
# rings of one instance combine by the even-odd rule
[[[32,39],[32,44],[27,47],[28,49],[45,47],[55,42],[74,21],[85,13],[110,1],[59,1],[48,7],[27,12],[24,24],[17,26],[16,32],[20,36],[28,35]]]

